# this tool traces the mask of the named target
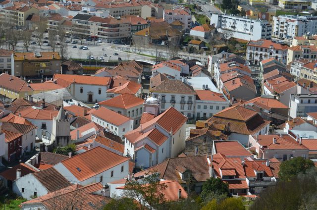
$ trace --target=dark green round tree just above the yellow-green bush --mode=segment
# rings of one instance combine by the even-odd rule
[[[201,197],[203,200],[207,198],[211,193],[215,193],[218,195],[221,194],[229,194],[229,185],[228,183],[224,183],[219,178],[213,178],[207,179],[207,181],[204,183],[202,188]]]

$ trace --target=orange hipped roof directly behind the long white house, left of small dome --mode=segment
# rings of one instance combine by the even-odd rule
[[[142,105],[144,103],[144,100],[135,97],[131,94],[121,94],[114,98],[108,99],[103,102],[99,102],[99,105],[106,105],[111,107],[117,107],[117,108],[131,108],[138,105]]]

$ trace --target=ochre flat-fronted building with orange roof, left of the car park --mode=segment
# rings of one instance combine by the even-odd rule
[[[58,52],[13,52],[11,75],[23,77],[52,76],[60,72]]]

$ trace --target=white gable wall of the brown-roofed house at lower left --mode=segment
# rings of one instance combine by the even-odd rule
[[[37,197],[49,193],[48,189],[32,173],[16,179],[13,182],[13,192],[27,200],[31,200],[35,192]]]

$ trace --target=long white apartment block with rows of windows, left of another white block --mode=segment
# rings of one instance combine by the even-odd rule
[[[211,25],[219,32],[230,33],[229,37],[243,40],[269,40],[272,26],[267,20],[254,20],[228,14],[212,14]],[[229,38],[228,37],[228,38]]]

